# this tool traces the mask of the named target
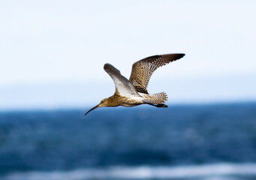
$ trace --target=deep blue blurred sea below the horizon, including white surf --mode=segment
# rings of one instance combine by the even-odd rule
[[[0,179],[256,179],[256,102],[90,108],[0,112]]]

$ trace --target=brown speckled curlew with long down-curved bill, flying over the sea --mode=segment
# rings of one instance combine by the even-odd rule
[[[167,105],[164,104],[167,101],[165,92],[149,95],[146,88],[149,84],[150,77],[157,68],[176,61],[184,55],[185,54],[164,54],[143,58],[132,65],[129,80],[123,77],[120,71],[113,67],[113,65],[105,64],[104,70],[115,83],[116,92],[110,98],[103,99],[100,104],[93,107],[86,114],[98,107],[135,107],[140,104],[149,104],[154,107],[167,107]]]

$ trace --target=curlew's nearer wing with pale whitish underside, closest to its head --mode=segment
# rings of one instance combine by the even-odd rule
[[[140,97],[131,82],[120,74],[113,65],[105,64],[104,70],[110,75],[116,86],[116,92],[125,97]]]

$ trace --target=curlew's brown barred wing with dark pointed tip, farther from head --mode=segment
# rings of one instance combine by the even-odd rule
[[[169,62],[176,61],[182,58],[185,54],[164,54],[153,55],[147,58],[143,58],[132,65],[130,82],[137,90],[137,92],[143,92],[148,94],[146,88],[149,84],[149,79],[153,72]]]

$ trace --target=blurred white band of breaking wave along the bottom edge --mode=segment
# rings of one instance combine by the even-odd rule
[[[232,176],[232,178],[229,178]],[[87,180],[87,179],[240,179],[255,176],[256,163],[218,163],[191,166],[112,166],[102,169],[76,169],[53,172],[12,172],[3,180]],[[218,177],[218,178],[215,178]],[[242,178],[245,179],[245,178]]]

